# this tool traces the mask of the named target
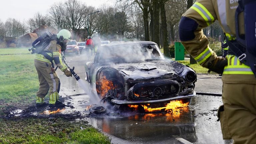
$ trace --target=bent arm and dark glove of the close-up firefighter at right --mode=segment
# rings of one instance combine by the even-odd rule
[[[217,16],[212,1],[198,0],[182,15],[179,36],[185,49],[200,65],[217,73],[222,73],[226,65],[225,59],[217,57],[216,53],[212,51],[202,30],[215,20],[217,20]],[[217,65],[221,68],[216,68]]]

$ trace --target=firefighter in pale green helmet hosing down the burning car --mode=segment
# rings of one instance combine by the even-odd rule
[[[34,63],[39,79],[39,90],[36,93],[36,106],[41,107],[46,105],[44,97],[49,92],[49,107],[64,107],[65,104],[60,102],[59,90],[60,79],[55,72],[54,63],[67,77],[72,76],[67,66],[61,60],[61,51],[66,49],[66,44],[71,40],[71,33],[62,29],[57,34],[56,40],[51,40],[50,44],[45,48],[45,51],[36,54]]]

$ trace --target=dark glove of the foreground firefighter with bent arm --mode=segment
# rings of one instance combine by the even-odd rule
[[[228,64],[227,59],[225,58],[216,58],[215,60],[208,63],[208,69],[210,71],[216,72],[218,74],[222,74],[224,67]]]

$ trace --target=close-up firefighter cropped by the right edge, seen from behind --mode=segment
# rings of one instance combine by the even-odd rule
[[[185,49],[201,66],[222,74],[223,105],[218,109],[218,118],[223,139],[233,139],[234,144],[256,144],[256,78],[253,67],[244,63],[243,57],[236,56],[231,51],[233,45],[239,45],[236,42],[238,41],[237,23],[239,35],[246,35],[246,27],[244,27],[246,11],[236,16],[237,7],[242,1],[197,0],[182,15],[179,23],[179,36]],[[226,58],[217,57],[209,47],[207,37],[203,34],[202,28],[211,25],[216,20],[219,21],[229,45]],[[255,31],[255,21],[253,23],[254,29],[251,31]],[[244,56],[244,53],[241,56]]]

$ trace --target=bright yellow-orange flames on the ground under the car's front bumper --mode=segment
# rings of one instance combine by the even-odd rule
[[[165,107],[151,108],[150,104],[141,105],[141,106],[144,108],[145,112],[157,112],[157,111],[161,111],[163,109],[164,109],[164,111],[172,112],[172,111],[175,111],[175,109],[177,109],[177,108],[187,107],[188,104],[189,104],[189,102],[182,103],[181,100],[176,100],[176,101],[171,101]],[[138,109],[138,105],[128,105],[128,106],[130,108]]]

